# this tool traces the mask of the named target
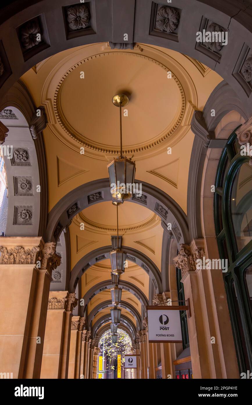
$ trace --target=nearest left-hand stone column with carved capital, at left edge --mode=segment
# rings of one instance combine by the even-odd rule
[[[51,274],[60,257],[56,244],[41,237],[4,237],[1,242],[0,372],[38,379]]]

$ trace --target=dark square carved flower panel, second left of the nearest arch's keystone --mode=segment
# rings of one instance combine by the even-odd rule
[[[44,14],[38,15],[19,26],[17,36],[25,61],[50,47]]]

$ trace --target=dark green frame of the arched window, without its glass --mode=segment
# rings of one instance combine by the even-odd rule
[[[228,260],[227,273],[223,273],[223,278],[237,361],[239,371],[242,373],[247,370],[252,371],[252,311],[246,283],[246,269],[252,265],[252,240],[239,250],[235,237],[235,221],[232,217],[231,202],[234,183],[241,166],[250,160],[249,156],[241,156],[235,132],[237,128],[229,136],[217,168],[214,223],[220,258]],[[252,201],[252,192],[247,194]],[[244,211],[236,215],[244,215]]]

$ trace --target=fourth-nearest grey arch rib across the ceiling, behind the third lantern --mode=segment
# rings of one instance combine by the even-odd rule
[[[146,313],[146,305],[148,305],[148,300],[146,295],[134,284],[130,283],[129,281],[124,281],[119,279],[118,286],[124,288],[124,290],[127,290],[131,292],[140,302],[141,305],[144,309],[144,312]],[[84,306],[81,306],[81,316],[84,316],[84,313],[86,311],[86,307],[90,301],[90,299],[96,295],[99,294],[99,292],[105,290],[105,288],[112,288],[112,282],[111,280],[105,280],[101,281],[100,283],[96,284],[86,294],[83,296],[84,299]]]

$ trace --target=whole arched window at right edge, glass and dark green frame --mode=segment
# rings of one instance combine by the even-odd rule
[[[237,128],[236,128],[237,129]],[[252,369],[252,166],[235,131],[216,174],[214,220],[240,372]]]

